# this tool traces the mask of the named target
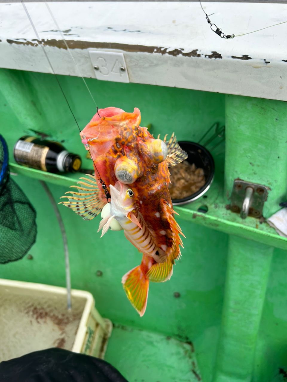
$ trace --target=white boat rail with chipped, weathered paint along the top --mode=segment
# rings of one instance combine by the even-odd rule
[[[70,46],[83,47],[86,42],[84,49],[72,49],[85,77],[95,78],[89,50],[122,52],[130,82],[287,100],[287,24],[226,40],[210,31],[197,2],[49,5],[61,30],[67,31]],[[79,76],[67,50],[51,46],[59,44],[61,36],[46,5],[26,6],[55,72]],[[207,14],[215,12],[210,19],[225,34],[287,20],[286,4],[206,2],[203,6]],[[0,20],[0,67],[51,73],[41,47],[33,41],[36,36],[21,3],[0,3]],[[200,56],[184,57],[188,52]],[[209,58],[212,52],[222,58]],[[232,58],[243,55],[251,59]]]

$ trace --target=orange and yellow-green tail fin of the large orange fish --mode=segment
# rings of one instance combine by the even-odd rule
[[[142,265],[135,267],[122,277],[122,284],[132,306],[140,317],[147,307],[149,280],[143,272]]]

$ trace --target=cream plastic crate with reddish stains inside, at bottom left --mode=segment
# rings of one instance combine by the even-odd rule
[[[0,279],[0,361],[59,347],[103,358],[112,323],[95,308],[91,293]]]

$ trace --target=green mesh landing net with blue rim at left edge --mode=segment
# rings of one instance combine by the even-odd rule
[[[11,179],[8,148],[0,134],[0,263],[20,260],[36,240],[36,211]]]

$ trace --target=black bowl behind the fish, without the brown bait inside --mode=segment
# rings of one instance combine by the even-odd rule
[[[201,197],[209,189],[214,178],[214,160],[205,147],[189,141],[179,141],[178,144],[188,154],[186,160],[191,164],[194,163],[197,168],[203,169],[205,183],[196,193],[190,196],[186,196],[183,199],[172,199],[174,205],[189,203]]]

